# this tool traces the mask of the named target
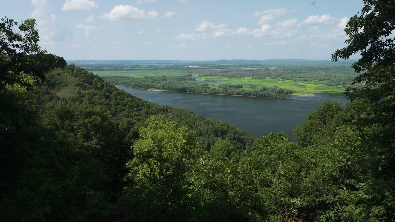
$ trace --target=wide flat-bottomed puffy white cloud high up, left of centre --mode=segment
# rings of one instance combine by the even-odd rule
[[[158,13],[155,10],[149,11],[145,14],[143,9],[129,5],[115,6],[110,13],[104,13],[101,19],[115,20],[139,20],[139,19],[155,19]]]

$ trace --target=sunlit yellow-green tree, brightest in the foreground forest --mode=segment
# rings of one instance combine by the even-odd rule
[[[137,220],[187,218],[186,173],[203,151],[194,132],[162,116],[149,117],[139,132],[140,139],[132,146],[134,158],[126,164],[130,185],[122,200],[127,203],[124,211]]]

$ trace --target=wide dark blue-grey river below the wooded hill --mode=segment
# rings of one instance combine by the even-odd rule
[[[334,98],[326,94],[293,96],[293,100],[286,100],[150,91],[114,85],[152,103],[187,109],[204,117],[229,122],[256,137],[282,131],[292,140],[292,129],[326,100],[347,103],[345,98]]]

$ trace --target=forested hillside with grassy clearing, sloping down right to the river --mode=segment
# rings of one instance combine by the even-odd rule
[[[75,85],[72,85],[73,83]],[[75,67],[73,64],[66,65],[64,70],[49,72],[47,82],[42,88],[48,94],[49,100],[53,100],[52,96],[55,92],[56,95],[68,101],[99,106],[103,112],[115,117],[117,121],[127,122],[128,127],[131,128],[128,131],[136,135],[149,116],[162,115],[166,120],[175,121],[194,130],[198,141],[204,144],[206,149],[209,149],[218,139],[229,139],[240,143],[243,147],[250,147],[254,141],[254,137],[231,124],[205,118],[185,109],[142,100],[109,85],[97,75]]]

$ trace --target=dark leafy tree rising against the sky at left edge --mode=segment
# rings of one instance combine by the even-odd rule
[[[13,19],[3,18],[0,23],[0,90],[7,83],[15,82],[31,87],[20,78],[22,71],[36,81],[45,80],[45,74],[62,67],[66,61],[53,54],[46,54],[38,45],[40,40],[36,21],[26,19],[19,26]]]

